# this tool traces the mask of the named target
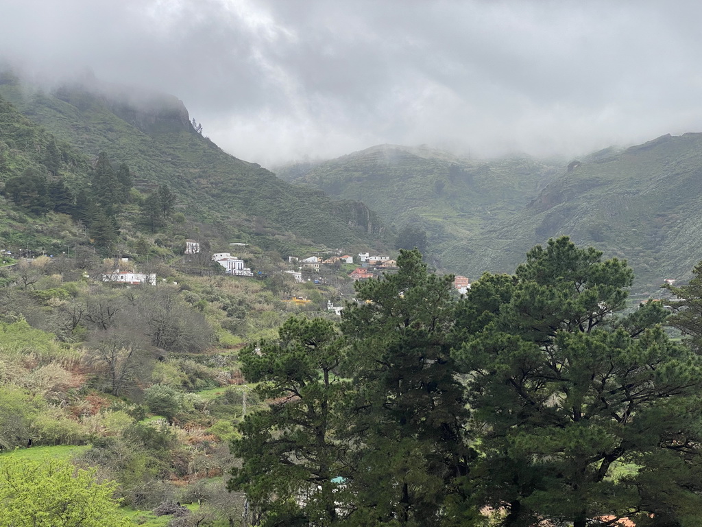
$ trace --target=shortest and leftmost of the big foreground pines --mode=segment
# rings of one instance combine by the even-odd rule
[[[270,411],[246,416],[240,426],[246,440],[232,448],[243,466],[230,487],[256,503],[261,525],[336,523],[341,493],[335,479],[346,447],[335,435],[348,385],[334,373],[340,349],[330,322],[291,318],[278,341],[241,353],[244,375],[260,383],[256,393],[276,401]]]

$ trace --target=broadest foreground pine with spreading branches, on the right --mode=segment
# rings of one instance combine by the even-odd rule
[[[648,521],[702,506],[691,469],[702,439],[700,358],[666,337],[656,304],[616,315],[633,273],[601,256],[550,240],[514,277],[484,275],[465,299],[458,324],[470,331],[456,356],[471,372],[473,425],[484,431],[474,493],[478,506],[506,511],[504,526]],[[676,483],[673,473],[685,477]]]

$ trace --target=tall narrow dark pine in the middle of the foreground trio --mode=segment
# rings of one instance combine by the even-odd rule
[[[451,358],[453,276],[428,272],[401,250],[397,273],[357,282],[359,304],[343,311],[348,374],[358,390],[348,421],[359,445],[350,474],[369,524],[463,525],[472,517],[463,385]]]

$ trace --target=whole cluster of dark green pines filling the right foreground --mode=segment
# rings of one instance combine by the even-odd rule
[[[461,299],[418,252],[397,263],[340,334],[291,320],[242,354],[272,401],[230,485],[262,524],[698,524],[702,360],[660,304],[618,314],[624,261],[550,240]]]

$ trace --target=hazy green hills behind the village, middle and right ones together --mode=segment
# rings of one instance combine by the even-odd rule
[[[363,200],[398,228],[421,226],[435,263],[472,278],[514,271],[557,235],[628,259],[640,292],[687,278],[702,259],[702,134],[607,148],[569,167],[384,145],[277,173]]]

